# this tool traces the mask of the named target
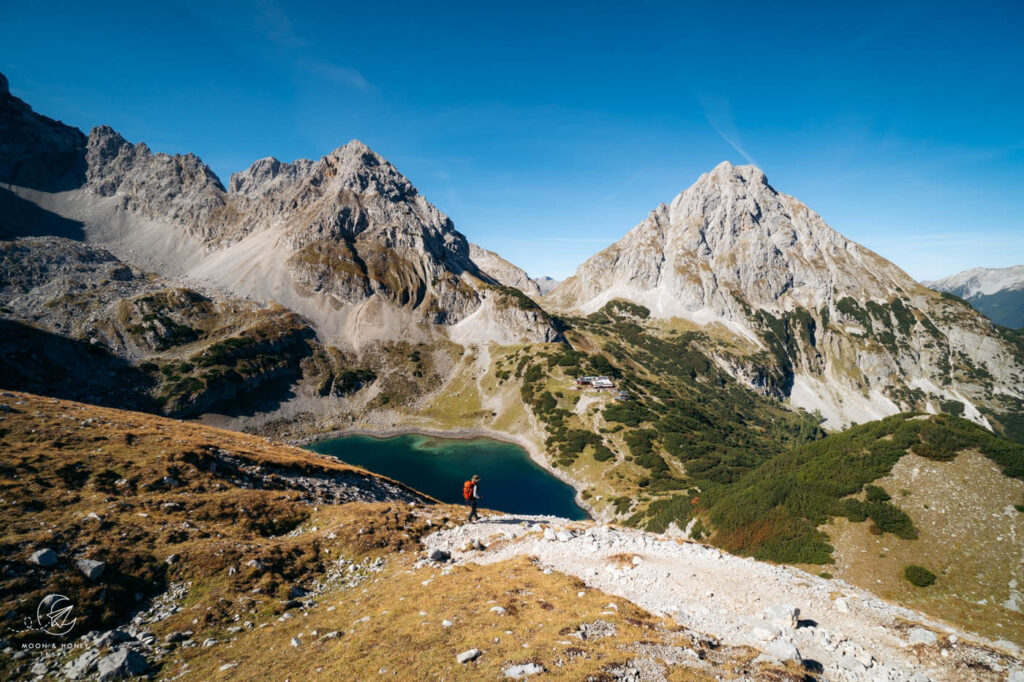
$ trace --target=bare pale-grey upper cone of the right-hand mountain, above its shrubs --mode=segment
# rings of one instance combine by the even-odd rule
[[[621,297],[659,316],[746,326],[743,305],[781,309],[784,297],[816,309],[916,284],[775,191],[761,170],[725,162],[581,265],[552,299],[592,312]]]

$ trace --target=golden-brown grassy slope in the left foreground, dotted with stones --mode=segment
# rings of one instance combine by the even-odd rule
[[[382,668],[398,679],[493,679],[506,665],[537,662],[572,678],[604,679],[638,650],[663,644],[697,648],[719,675],[752,670],[748,650],[710,649],[670,622],[575,580],[545,574],[527,560],[447,574],[418,567],[417,539],[462,510],[330,504],[290,486],[293,475],[381,480],[332,459],[151,415],[25,393],[4,393],[0,401],[10,408],[0,414],[0,598],[11,606],[5,626],[19,623],[22,611],[34,609],[42,595],[59,592],[72,598],[82,619],[76,634],[110,628],[127,617],[135,592],[148,598],[167,585],[186,584],[182,610],[147,629],[161,642],[168,633],[190,630],[197,642],[214,638],[220,644],[169,645],[161,677],[211,679],[220,666],[233,663],[234,679],[360,679]],[[213,451],[275,472],[271,480],[280,485],[241,487],[222,468],[207,466],[206,454]],[[165,476],[182,484],[165,488]],[[101,520],[86,518],[89,512]],[[57,566],[28,563],[41,547],[57,552]],[[171,554],[178,559],[169,564]],[[75,570],[71,559],[77,556],[105,561],[106,572],[90,583]],[[265,567],[246,565],[253,558]],[[355,571],[357,585],[330,578],[339,559],[364,566]],[[372,565],[379,569],[367,568]],[[326,587],[315,605],[283,603],[291,586],[317,583]],[[609,602],[617,609],[607,608]],[[508,614],[498,616],[493,605]],[[289,609],[297,617],[281,621]],[[455,625],[444,629],[442,619]],[[611,623],[615,634],[586,640],[571,635],[598,619]],[[247,622],[251,628],[228,631]],[[319,639],[332,631],[341,636]],[[292,637],[302,645],[291,646]],[[12,643],[18,644],[16,637]],[[458,652],[473,647],[485,651],[479,662],[456,663]],[[31,663],[0,654],[0,677],[24,675]],[[705,677],[684,667],[671,675]],[[765,675],[790,679],[781,670]]]

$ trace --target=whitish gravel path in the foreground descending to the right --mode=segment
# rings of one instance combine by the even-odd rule
[[[486,549],[469,549],[474,540]],[[545,567],[725,644],[803,660],[829,680],[1024,682],[1024,659],[1009,642],[993,645],[842,581],[698,543],[521,515],[487,517],[424,543],[428,552],[443,549],[460,562],[535,556]]]

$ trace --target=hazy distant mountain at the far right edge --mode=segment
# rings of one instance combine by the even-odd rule
[[[1024,329],[1024,265],[974,267],[921,284],[963,298],[997,325]]]

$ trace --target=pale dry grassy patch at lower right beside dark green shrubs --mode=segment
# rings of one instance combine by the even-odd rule
[[[1024,480],[967,451],[948,462],[906,455],[874,483],[906,511],[920,537],[874,535],[867,523],[834,518],[821,526],[836,548],[827,570],[992,639],[1020,641],[1024,513],[1015,505],[1024,502]],[[908,564],[929,568],[935,584],[910,585],[902,574]]]

